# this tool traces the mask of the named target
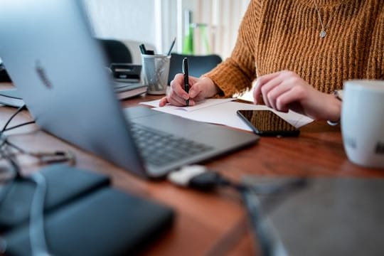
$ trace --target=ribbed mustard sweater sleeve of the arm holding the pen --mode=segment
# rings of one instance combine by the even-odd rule
[[[220,63],[209,73],[208,77],[220,88],[220,96],[231,97],[252,87],[256,78],[255,40],[257,35],[260,0],[252,0],[242,18],[238,38],[230,58]]]

